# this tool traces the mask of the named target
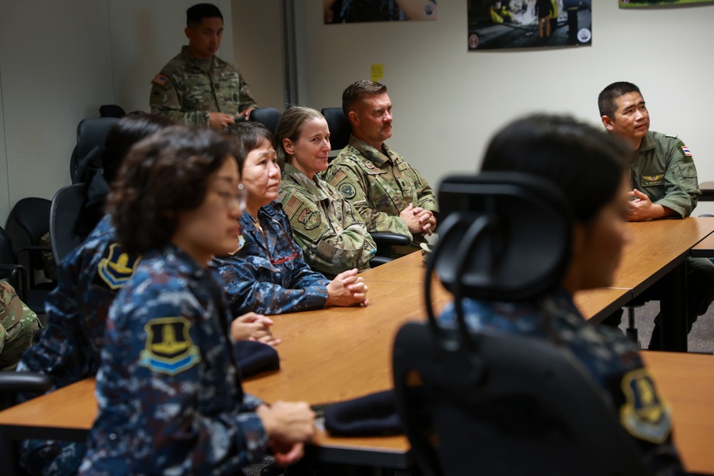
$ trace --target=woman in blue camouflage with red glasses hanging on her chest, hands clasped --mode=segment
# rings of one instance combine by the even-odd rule
[[[277,201],[280,169],[275,136],[259,123],[236,123],[226,131],[236,139],[236,159],[246,193],[243,235],[233,253],[216,256],[231,310],[282,314],[326,305],[365,305],[367,286],[357,270],[333,280],[311,270],[293,241],[290,220]]]

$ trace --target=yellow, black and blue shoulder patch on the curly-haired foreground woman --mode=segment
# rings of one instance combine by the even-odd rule
[[[146,347],[139,364],[154,372],[176,375],[201,361],[201,353],[193,344],[188,329],[191,323],[183,317],[156,318],[144,326]]]

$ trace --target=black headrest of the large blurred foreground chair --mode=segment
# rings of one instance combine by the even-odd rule
[[[455,298],[525,301],[560,285],[573,225],[552,183],[516,172],[452,176],[441,183],[438,201],[430,266]]]

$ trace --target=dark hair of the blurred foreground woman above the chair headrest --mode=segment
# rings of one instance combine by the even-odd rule
[[[576,223],[611,201],[625,176],[626,144],[568,116],[518,119],[491,139],[482,171],[520,171],[550,181],[568,198]]]

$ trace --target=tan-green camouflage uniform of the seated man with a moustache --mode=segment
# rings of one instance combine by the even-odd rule
[[[436,197],[421,173],[386,144],[378,151],[355,136],[330,164],[325,180],[350,201],[362,216],[367,231],[391,231],[413,239],[411,246],[393,255],[416,251],[423,236],[412,236],[399,213],[412,203],[438,211]]]

